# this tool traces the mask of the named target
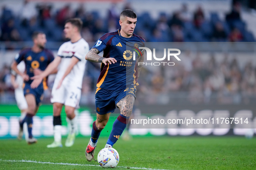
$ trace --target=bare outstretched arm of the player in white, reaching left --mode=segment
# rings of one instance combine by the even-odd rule
[[[42,82],[43,78],[54,72],[61,60],[61,57],[55,57],[55,59],[46,67],[46,69],[41,74],[31,77],[30,79],[32,79],[33,82],[31,83],[30,87],[37,88]]]

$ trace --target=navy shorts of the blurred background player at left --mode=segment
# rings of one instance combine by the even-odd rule
[[[24,96],[26,97],[26,94],[33,94],[36,98],[37,106],[39,106],[39,104],[42,101],[43,93],[44,93],[44,88],[42,83],[37,88],[31,88],[29,83],[25,83]]]

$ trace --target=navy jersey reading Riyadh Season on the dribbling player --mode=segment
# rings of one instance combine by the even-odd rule
[[[136,60],[133,60],[133,51],[126,48],[126,42],[134,42],[135,47],[141,47],[145,40],[136,34],[130,38],[122,37],[118,29],[104,34],[92,47],[100,52],[104,51],[103,57],[112,57],[117,60],[114,64],[101,64],[97,88],[116,90],[117,88],[125,89],[126,85],[136,84]]]

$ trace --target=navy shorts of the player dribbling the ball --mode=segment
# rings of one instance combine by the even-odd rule
[[[132,94],[136,98],[136,88],[122,88],[118,90],[107,90],[101,88],[95,94],[95,107],[98,114],[113,113],[116,109],[117,103],[126,95]]]

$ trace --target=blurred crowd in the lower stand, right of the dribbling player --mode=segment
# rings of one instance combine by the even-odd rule
[[[144,66],[137,99],[144,104],[252,104],[256,100],[254,54],[186,51],[175,66]],[[221,60],[217,61],[217,58]],[[204,60],[202,60],[204,58]],[[168,61],[166,61],[168,62]]]

